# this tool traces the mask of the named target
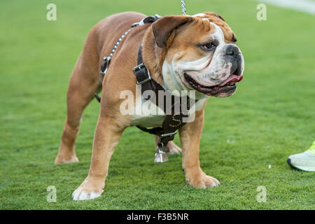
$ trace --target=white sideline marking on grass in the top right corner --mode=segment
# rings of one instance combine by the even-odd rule
[[[309,0],[259,0],[270,5],[291,8],[304,13],[315,15],[315,2]]]

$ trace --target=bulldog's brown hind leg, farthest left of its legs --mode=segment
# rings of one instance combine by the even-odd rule
[[[92,41],[92,36],[88,36],[83,53],[78,58],[71,74],[66,95],[66,122],[55,164],[78,162],[74,145],[80,127],[80,120],[85,107],[94,98],[95,92],[102,89],[98,64],[99,59],[94,41]]]

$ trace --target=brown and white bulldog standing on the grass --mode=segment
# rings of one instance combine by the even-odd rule
[[[132,69],[142,43],[142,57],[151,77],[165,90],[195,91],[195,120],[179,129],[181,148],[172,141],[171,152],[182,151],[183,170],[191,186],[219,186],[219,181],[200,168],[200,136],[204,123],[204,106],[209,96],[229,97],[243,77],[244,58],[236,45],[237,38],[228,24],[216,13],[167,15],[130,31],[116,49],[104,80],[100,64],[118,38],[146,15],[119,13],[95,25],[87,36],[83,51],[73,69],[67,92],[67,117],[55,164],[78,162],[74,144],[83,110],[102,90],[102,102],[94,134],[90,172],[73,192],[73,200],[91,200],[104,191],[109,161],[126,127],[160,126],[164,116],[120,113],[124,90],[134,92],[137,107],[137,80]],[[196,91],[197,90],[197,91]],[[141,97],[141,96],[140,96]],[[142,99],[141,99],[142,100]]]

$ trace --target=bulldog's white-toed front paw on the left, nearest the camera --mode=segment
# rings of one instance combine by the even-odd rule
[[[94,183],[94,184],[93,184]],[[74,201],[80,200],[92,200],[94,198],[100,197],[104,192],[101,185],[95,184],[94,181],[88,181],[88,178],[83,181],[83,183],[72,193],[72,199]],[[104,186],[104,185],[103,185]]]

